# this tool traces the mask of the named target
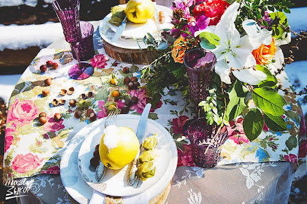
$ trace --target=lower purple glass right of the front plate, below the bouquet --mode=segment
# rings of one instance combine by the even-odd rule
[[[215,128],[207,125],[205,117],[186,122],[183,127],[183,132],[191,142],[192,159],[195,165],[201,168],[212,168],[216,166],[220,159],[220,146],[228,138],[226,126],[221,128],[220,133],[218,133],[214,141],[212,139],[215,136]],[[209,145],[210,147],[207,150]],[[205,152],[206,154],[204,154]]]

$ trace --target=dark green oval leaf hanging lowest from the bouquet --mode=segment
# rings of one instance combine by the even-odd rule
[[[249,111],[243,120],[243,129],[249,141],[256,139],[264,128],[264,119],[258,109]]]

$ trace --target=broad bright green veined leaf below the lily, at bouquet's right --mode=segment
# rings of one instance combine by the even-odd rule
[[[255,105],[265,113],[274,116],[284,114],[284,105],[286,100],[271,87],[256,88],[253,91],[253,100]]]

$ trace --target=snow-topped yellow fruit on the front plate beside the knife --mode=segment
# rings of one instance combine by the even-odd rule
[[[140,144],[130,128],[110,125],[100,141],[100,160],[107,168],[118,170],[134,160]]]

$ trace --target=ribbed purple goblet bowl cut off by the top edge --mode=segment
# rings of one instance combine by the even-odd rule
[[[81,40],[79,22],[79,0],[54,0],[52,7],[56,12],[63,27],[65,40],[68,43],[75,43]]]

